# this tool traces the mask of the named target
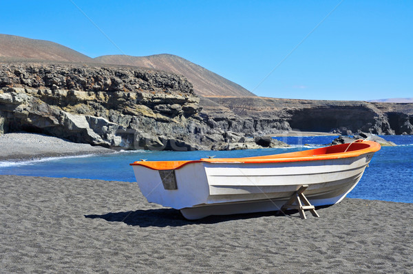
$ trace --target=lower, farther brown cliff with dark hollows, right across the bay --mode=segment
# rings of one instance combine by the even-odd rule
[[[412,103],[207,97],[201,105],[204,112],[211,113],[210,125],[223,130],[242,128],[244,134],[277,134],[290,129],[413,134]]]

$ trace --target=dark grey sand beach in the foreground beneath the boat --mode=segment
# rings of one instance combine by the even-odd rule
[[[0,273],[412,273],[413,204],[184,220],[136,183],[0,176]]]

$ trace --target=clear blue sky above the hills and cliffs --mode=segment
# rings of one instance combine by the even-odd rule
[[[91,57],[176,54],[259,96],[413,97],[413,1],[62,0],[1,6],[2,34],[54,41]]]

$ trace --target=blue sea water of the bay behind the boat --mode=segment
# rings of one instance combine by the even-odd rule
[[[140,159],[198,160],[263,156],[323,147],[337,136],[276,137],[292,147],[283,149],[247,149],[237,151],[120,151],[100,156],[46,158],[27,162],[0,162],[0,174],[67,177],[134,182],[129,166]],[[413,136],[382,136],[396,147],[381,147],[370,162],[350,198],[413,202]]]

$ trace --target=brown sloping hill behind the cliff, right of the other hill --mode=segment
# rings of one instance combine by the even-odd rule
[[[94,60],[96,63],[151,67],[182,74],[193,84],[195,93],[202,96],[255,96],[244,87],[176,55],[157,54],[143,57],[106,55],[96,57]]]

